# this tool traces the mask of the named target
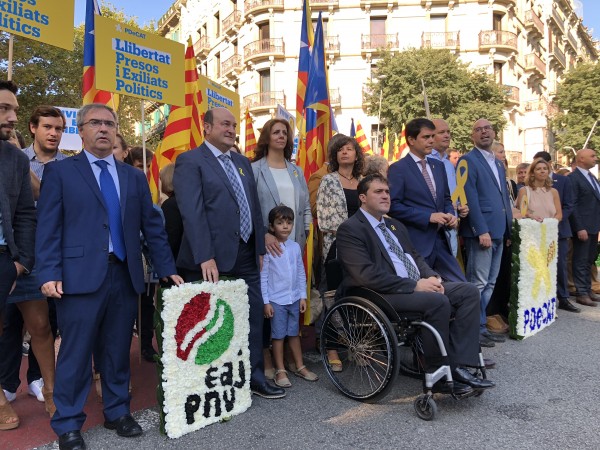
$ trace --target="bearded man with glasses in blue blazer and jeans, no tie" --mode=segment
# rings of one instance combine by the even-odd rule
[[[512,224],[504,165],[492,151],[495,137],[490,122],[479,119],[471,134],[475,147],[461,158],[469,170],[465,184],[469,215],[461,221],[459,231],[467,251],[467,281],[481,294],[479,342],[483,347],[504,341],[487,330],[486,308],[500,270],[503,239],[510,237]]]

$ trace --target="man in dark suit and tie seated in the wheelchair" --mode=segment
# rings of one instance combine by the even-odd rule
[[[387,180],[368,175],[358,184],[360,209],[337,230],[337,259],[350,288],[376,291],[398,312],[418,313],[441,335],[449,361],[430,332],[421,333],[425,369],[449,364],[453,390],[437,382],[433,392],[464,395],[494,387],[466,367],[479,366],[479,291],[471,283],[444,282],[415,251],[404,225],[384,217],[390,209]],[[338,291],[339,293],[339,291]],[[454,320],[450,320],[451,313]]]

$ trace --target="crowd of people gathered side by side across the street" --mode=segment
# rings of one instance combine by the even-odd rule
[[[322,294],[368,287],[398,311],[422,314],[448,349],[442,357],[424,333],[425,364],[450,364],[454,379],[453,387],[436,383],[435,392],[494,387],[465,367],[479,364],[480,347],[505,340],[510,282],[503,277],[511,273],[512,221],[523,215],[560,221],[559,307],[579,311],[569,300],[570,267],[577,303],[600,301],[591,286],[600,227],[600,185],[589,172],[597,163],[593,150],[577,153],[568,177],[555,174],[550,155],[541,152],[517,167],[515,183],[488,120],[473,124],[474,147],[459,159],[450,150],[448,123],[418,118],[406,126],[408,155],[389,168],[385,159],[365,157],[354,138],[337,134],[326,164],[307,182],[292,161],[287,121],[265,123],[249,161],[236,151],[236,118],[214,108],[204,116],[204,143],[161,170],[164,200],[157,207],[143,174],[144,150],[117,133],[111,108],[81,108],[84,150],[65,158],[58,146],[66,122],[53,107],[32,114],[29,147],[9,143],[16,94],[14,83],[0,82],[0,352],[8,355],[0,362],[0,430],[19,426],[10,403],[26,329],[28,391],[44,402],[61,449],[85,448],[81,428],[92,377],[104,426],[124,437],[141,434],[130,414],[129,352],[139,296],[142,355],[155,360],[158,279],[246,282],[250,388],[269,399],[285,396],[289,373],[318,380],[303,362],[299,337],[307,283]],[[461,160],[468,177],[457,182]],[[457,184],[468,201],[452,201]],[[302,254],[313,220],[315,270],[307,280]],[[342,280],[328,273],[332,261],[341,264]],[[332,371],[347,369],[335,350],[327,360]]]

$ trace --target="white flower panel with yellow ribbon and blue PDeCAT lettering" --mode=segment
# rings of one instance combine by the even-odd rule
[[[511,306],[511,336],[533,336],[556,320],[558,220],[518,220],[517,302]],[[514,259],[513,259],[514,261]],[[511,301],[514,302],[514,293]],[[516,306],[516,307],[515,307]]]

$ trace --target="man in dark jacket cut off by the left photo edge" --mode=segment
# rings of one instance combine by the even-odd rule
[[[27,156],[10,144],[17,123],[17,86],[0,81],[0,334],[8,294],[18,276],[33,268],[35,206]],[[19,426],[19,419],[0,388],[0,430]]]

